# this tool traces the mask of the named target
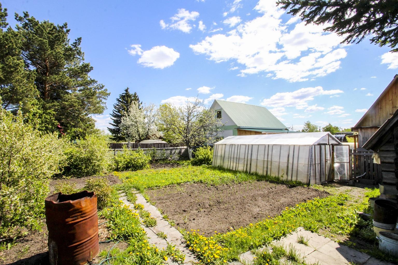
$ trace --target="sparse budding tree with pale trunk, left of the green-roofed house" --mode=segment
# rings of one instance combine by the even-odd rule
[[[159,107],[158,130],[166,142],[186,145],[189,159],[192,159],[192,147],[215,142],[222,126],[214,111],[206,109],[199,99],[187,101],[181,107],[169,103]]]

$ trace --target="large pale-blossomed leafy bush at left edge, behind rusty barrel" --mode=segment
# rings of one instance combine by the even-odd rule
[[[24,124],[20,113],[0,108],[0,238],[15,236],[22,227],[37,228],[65,144]]]

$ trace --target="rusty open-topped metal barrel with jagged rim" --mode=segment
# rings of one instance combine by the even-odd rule
[[[45,199],[51,265],[82,265],[100,250],[97,195],[55,193]]]

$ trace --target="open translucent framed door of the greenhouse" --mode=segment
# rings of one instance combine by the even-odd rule
[[[349,145],[333,145],[334,179],[349,180]]]

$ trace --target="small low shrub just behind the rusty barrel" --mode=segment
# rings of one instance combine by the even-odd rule
[[[87,179],[84,190],[94,191],[97,195],[97,208],[102,209],[110,205],[112,201],[112,188],[105,178]]]

